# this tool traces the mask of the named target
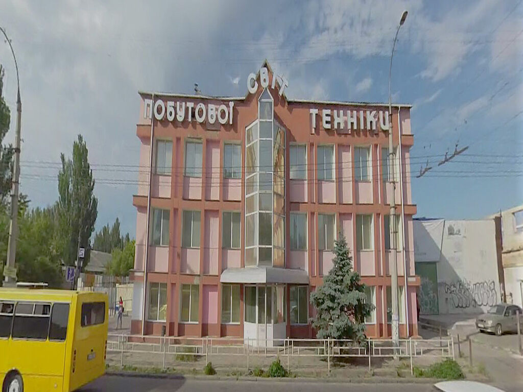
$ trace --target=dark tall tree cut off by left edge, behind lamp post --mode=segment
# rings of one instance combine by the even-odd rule
[[[7,198],[11,190],[14,148],[10,144],[2,143],[11,121],[9,108],[2,95],[3,79],[4,68],[0,65],[0,208],[7,209]]]

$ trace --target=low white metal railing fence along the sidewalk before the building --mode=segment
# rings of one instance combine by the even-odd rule
[[[249,339],[249,338],[186,338],[158,337],[141,335],[109,334],[107,341],[109,353],[120,354],[120,365],[124,365],[124,353],[153,354],[154,359],[166,367],[167,355],[191,355],[195,358],[234,358],[249,369],[252,361],[260,358],[278,357],[287,370],[300,358],[326,360],[327,372],[331,373],[332,361],[343,358],[359,358],[368,361],[369,370],[373,359],[410,359],[411,373],[413,360],[418,357],[454,359],[452,337],[441,339],[400,339],[394,345],[391,339],[367,339],[363,344],[352,340],[335,339]],[[241,358],[238,358],[241,357]],[[217,358],[217,359],[218,359]],[[315,363],[317,366],[317,363]]]

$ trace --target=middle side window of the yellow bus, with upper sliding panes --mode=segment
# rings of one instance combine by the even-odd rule
[[[44,309],[47,306],[51,307],[50,304],[17,303],[13,321],[13,338],[47,339],[50,319],[49,311],[43,315],[35,314],[35,310],[45,313]]]

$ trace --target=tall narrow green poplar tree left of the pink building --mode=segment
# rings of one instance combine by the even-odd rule
[[[98,214],[98,200],[93,194],[95,180],[87,155],[87,145],[82,135],[78,135],[78,141],[73,143],[72,159],[65,159],[63,153],[60,157],[62,168],[58,173],[58,205],[66,265],[73,265],[76,260],[78,237],[80,246],[86,248],[84,266],[88,263],[89,238]]]

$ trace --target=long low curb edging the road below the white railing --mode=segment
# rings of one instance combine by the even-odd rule
[[[108,376],[137,377],[137,378],[159,378],[159,379],[192,379],[199,381],[249,381],[249,382],[279,382],[291,383],[329,383],[329,384],[434,384],[441,381],[437,378],[392,378],[392,377],[362,377],[362,378],[315,378],[315,377],[249,377],[249,376],[203,376],[183,375],[177,373],[140,373],[140,372],[105,372]]]

